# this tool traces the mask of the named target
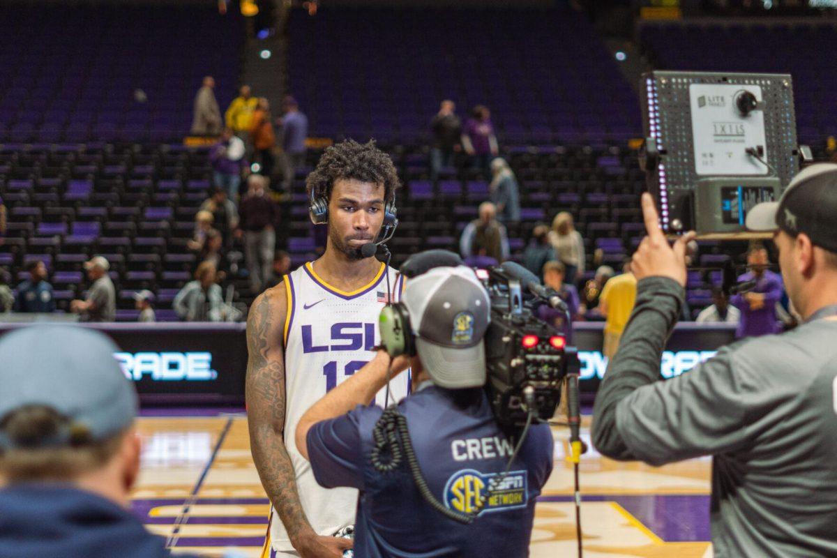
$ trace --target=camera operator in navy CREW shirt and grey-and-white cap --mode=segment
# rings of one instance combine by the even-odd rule
[[[483,391],[488,293],[472,269],[439,267],[411,279],[402,305],[389,311],[408,315],[408,320],[393,320],[391,330],[403,331],[404,351],[409,354],[414,342],[416,355],[393,359],[378,351],[316,402],[296,428],[297,448],[311,461],[319,484],[360,490],[356,555],[528,555],[535,499],[552,472],[552,433],[546,424],[530,427],[497,494],[486,498],[479,517],[465,525],[423,499],[406,464],[379,472],[373,432],[383,409],[362,407],[386,385],[388,369],[397,374],[411,366],[412,394],[398,403],[398,412],[406,417],[429,490],[447,509],[480,511],[480,499],[491,479],[506,469],[517,443],[501,431]],[[382,320],[385,344],[386,327]]]

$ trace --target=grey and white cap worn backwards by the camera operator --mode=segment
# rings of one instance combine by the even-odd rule
[[[416,335],[416,351],[434,384],[448,389],[485,384],[482,338],[490,299],[473,269],[440,267],[410,279],[403,304]]]

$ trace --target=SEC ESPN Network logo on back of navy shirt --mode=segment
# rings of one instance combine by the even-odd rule
[[[444,485],[444,505],[465,514],[475,512],[480,499],[488,492],[491,479],[496,476],[496,473],[482,474],[471,468],[457,471]],[[526,479],[526,471],[511,471],[494,487],[480,514],[525,508],[529,503]]]

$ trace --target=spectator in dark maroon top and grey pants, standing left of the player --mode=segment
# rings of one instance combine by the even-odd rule
[[[275,228],[279,226],[279,205],[265,191],[267,179],[251,174],[248,192],[241,200],[239,215],[244,231],[244,255],[250,274],[250,288],[260,293],[273,275],[276,248]]]

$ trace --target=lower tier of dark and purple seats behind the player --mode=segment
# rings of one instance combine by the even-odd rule
[[[312,153],[311,160],[318,154]],[[393,263],[424,248],[458,249],[462,228],[476,218],[488,184],[470,171],[434,186],[426,166],[415,166],[420,151],[395,156],[405,183],[400,196]],[[596,248],[603,263],[619,269],[639,243],[643,226],[636,207],[643,175],[634,152],[617,144],[520,149],[509,154],[521,180],[521,223],[509,225],[513,257],[520,256],[531,228],[561,210],[578,216],[587,243],[588,268]],[[207,150],[183,146],[107,144],[87,146],[4,146],[0,148],[0,197],[9,212],[8,238],[0,266],[23,269],[28,261],[47,264],[59,308],[80,296],[83,262],[105,255],[118,290],[119,318],[131,320],[131,294],[157,293],[158,316],[173,320],[170,303],[191,279],[195,260],[187,249],[194,214],[207,197],[211,168]],[[280,235],[294,264],[316,256],[301,177],[293,203],[283,204],[290,226]],[[290,238],[285,238],[289,234]],[[711,264],[717,248],[704,246]],[[722,256],[715,257],[723,258]],[[717,263],[715,260],[715,263]],[[585,276],[591,275],[592,269]],[[25,273],[20,271],[18,278]],[[247,281],[230,278],[242,300]],[[711,274],[690,276],[690,302],[708,304]]]

